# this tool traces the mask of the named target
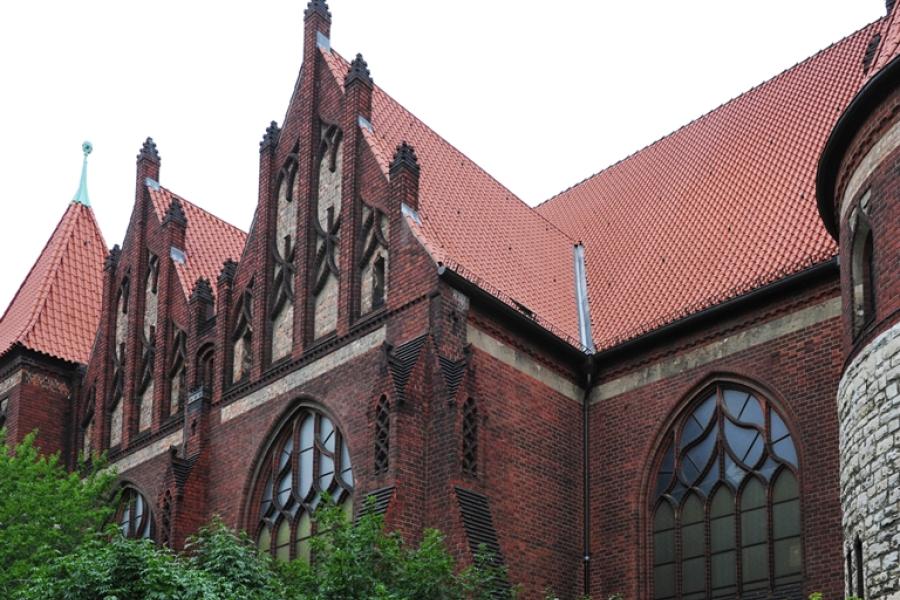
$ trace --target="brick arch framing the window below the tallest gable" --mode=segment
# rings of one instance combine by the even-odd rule
[[[380,396],[381,394],[379,394],[377,397]],[[281,415],[277,419],[275,419],[275,421],[266,431],[265,435],[262,437],[262,440],[257,446],[256,453],[253,456],[253,462],[251,463],[252,468],[250,469],[247,475],[247,479],[244,482],[243,501],[241,503],[241,511],[238,522],[240,523],[240,526],[243,527],[251,536],[255,535],[256,532],[256,521],[258,516],[257,505],[262,493],[262,487],[265,484],[263,478],[261,477],[265,469],[265,458],[266,456],[268,456],[273,446],[278,442],[285,426],[287,426],[287,424],[297,415],[297,413],[304,409],[310,409],[318,412],[322,416],[327,417],[329,420],[331,420],[331,422],[334,424],[335,429],[341,433],[341,437],[344,440],[344,443],[347,445],[347,451],[350,454],[350,462],[353,465],[354,470],[359,468],[358,465],[360,464],[360,459],[366,456],[366,453],[363,452],[362,449],[357,448],[354,450],[353,444],[351,443],[349,436],[346,434],[349,429],[324,403],[310,396],[299,396],[295,400],[289,402],[287,407],[282,410]],[[355,476],[354,479],[356,479]]]

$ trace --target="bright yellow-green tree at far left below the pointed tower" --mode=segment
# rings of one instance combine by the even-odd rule
[[[95,538],[109,521],[113,473],[68,472],[31,433],[10,448],[0,430],[0,597]]]

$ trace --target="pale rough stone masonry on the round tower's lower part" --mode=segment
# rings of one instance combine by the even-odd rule
[[[863,348],[847,368],[838,389],[838,411],[845,547],[852,548],[857,536],[862,541],[866,598],[897,600],[900,324]]]

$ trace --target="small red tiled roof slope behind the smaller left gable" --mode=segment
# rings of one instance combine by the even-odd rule
[[[190,297],[194,283],[201,277],[216,281],[226,260],[238,260],[244,252],[247,234],[234,225],[207,212],[181,196],[157,185],[148,185],[153,209],[160,222],[172,200],[178,198],[187,220],[185,229],[184,263],[174,261],[178,280],[185,297]]]

